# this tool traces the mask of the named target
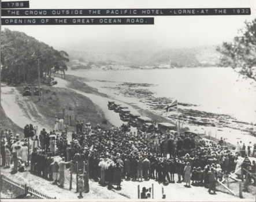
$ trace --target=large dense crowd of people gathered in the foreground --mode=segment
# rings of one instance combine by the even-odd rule
[[[233,171],[237,171],[241,178],[244,173],[239,169],[243,167],[254,175],[248,176],[255,185],[255,162],[251,163],[242,149],[231,152],[222,139],[215,143],[196,135],[174,136],[169,132],[144,133],[139,130],[132,133],[124,125],[106,129],[81,121],[77,122],[76,132],[71,134],[72,141],[68,141],[67,132],[64,128],[58,128],[58,132],[40,131],[38,147],[34,144],[29,156],[31,173],[53,180],[54,184],[60,178],[63,187],[65,165],[84,161],[88,163],[88,176],[109,189],[113,184],[121,189],[122,179],[143,181],[151,178],[159,183],[175,183],[177,175],[177,183],[185,182],[185,186],[190,187],[192,181],[194,185],[209,188],[209,193],[212,190],[215,193],[217,179],[221,180],[223,174]],[[27,162],[27,139],[14,137],[10,130],[2,133],[2,166],[9,168],[12,159],[13,170],[17,172],[16,158],[21,164]],[[61,162],[54,160],[54,156],[60,156]]]

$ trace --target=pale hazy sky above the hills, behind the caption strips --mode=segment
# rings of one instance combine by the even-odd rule
[[[256,17],[255,0],[29,0],[29,3],[30,9],[251,8],[250,16],[149,16],[155,18],[154,25],[2,26],[65,49],[132,40],[155,41],[176,48],[220,44],[232,40],[238,29],[244,27],[245,20]]]

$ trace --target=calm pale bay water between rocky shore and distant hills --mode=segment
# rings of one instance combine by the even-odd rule
[[[196,110],[231,114],[240,121],[256,122],[256,82],[243,80],[231,68],[183,68],[153,70],[84,70],[67,72],[90,79],[88,85],[112,96],[123,82],[153,84],[144,87],[155,97],[197,104]],[[101,81],[101,82],[99,82]],[[195,109],[194,108],[194,109]]]

